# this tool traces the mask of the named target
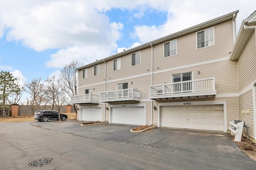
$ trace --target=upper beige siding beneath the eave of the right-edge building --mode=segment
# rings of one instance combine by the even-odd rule
[[[238,82],[239,90],[244,89],[256,80],[256,43],[255,31],[250,37],[248,44],[244,48],[238,59]]]

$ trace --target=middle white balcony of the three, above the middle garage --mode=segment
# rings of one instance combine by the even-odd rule
[[[101,92],[99,102],[140,102],[140,90],[136,88],[128,88],[122,90],[114,90],[109,92]]]

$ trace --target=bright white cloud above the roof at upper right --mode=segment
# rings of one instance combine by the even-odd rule
[[[239,29],[242,20],[252,14],[256,6],[256,1],[250,0],[215,0],[207,1],[207,5],[205,2],[201,0],[173,0],[166,2],[166,4],[158,4],[158,6],[164,5],[167,7],[168,18],[166,22],[159,26],[137,25],[134,27],[135,30],[132,36],[137,37],[141,43],[146,43],[236,10],[240,10],[236,18],[237,29]],[[248,6],[248,4],[250,5]],[[164,6],[159,8],[164,9]]]

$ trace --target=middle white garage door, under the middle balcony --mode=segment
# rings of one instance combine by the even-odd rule
[[[112,107],[111,109],[112,123],[145,125],[144,107]]]

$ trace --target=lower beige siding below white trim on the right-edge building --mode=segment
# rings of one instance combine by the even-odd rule
[[[250,110],[250,114],[242,113],[242,111]],[[253,101],[252,101],[252,90],[239,96],[239,117],[240,120],[244,121],[248,128],[248,134],[250,137],[254,137],[254,112],[253,112]]]

